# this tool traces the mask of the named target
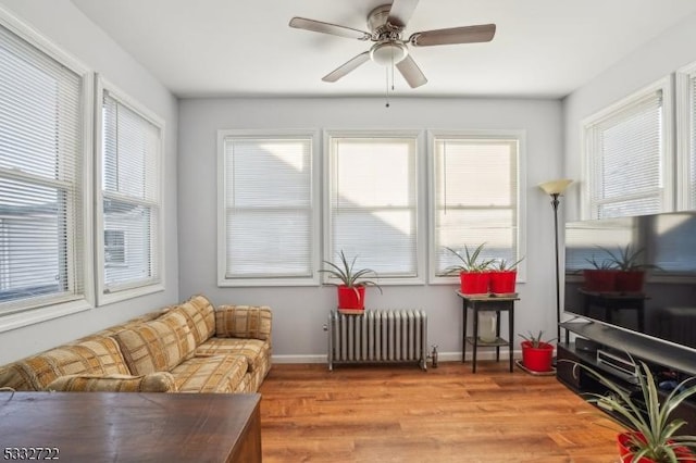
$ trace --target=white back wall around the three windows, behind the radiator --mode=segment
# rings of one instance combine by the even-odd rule
[[[561,104],[550,100],[189,99],[179,102],[179,285],[183,298],[202,292],[219,303],[268,304],[274,310],[274,354],[320,361],[322,330],[335,306],[333,287],[219,288],[216,286],[216,130],[219,128],[524,129],[527,153],[527,281],[519,285],[517,333],[555,336],[552,212],[536,185],[561,172]],[[369,305],[422,308],[428,341],[461,353],[461,301],[455,286],[385,287]],[[507,328],[504,328],[507,329]],[[519,338],[514,340],[515,345]],[[284,358],[285,356],[285,358]],[[283,359],[284,358],[284,359]]]

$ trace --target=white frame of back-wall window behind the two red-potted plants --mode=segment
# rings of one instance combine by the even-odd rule
[[[431,285],[452,285],[459,283],[459,276],[445,276],[437,274],[437,249],[435,240],[435,218],[437,214],[436,207],[436,166],[435,166],[435,143],[439,138],[448,139],[501,139],[517,140],[517,241],[518,258],[526,256],[526,130],[524,129],[464,129],[464,130],[428,130],[428,283]],[[526,281],[526,259],[518,264],[518,283]]]

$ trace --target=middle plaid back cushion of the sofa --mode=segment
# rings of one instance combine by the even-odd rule
[[[194,354],[196,342],[186,317],[176,311],[114,335],[130,373],[170,371]]]

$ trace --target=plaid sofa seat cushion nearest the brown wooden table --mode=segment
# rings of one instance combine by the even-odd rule
[[[235,392],[247,373],[240,355],[194,356],[172,370],[179,392]]]

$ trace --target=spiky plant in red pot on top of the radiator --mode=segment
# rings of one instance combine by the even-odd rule
[[[380,285],[371,279],[364,279],[368,275],[376,276],[377,274],[371,268],[355,268],[357,255],[350,262],[343,250],[339,255],[340,265],[324,261],[330,268],[322,268],[320,272],[327,273],[331,277],[340,281],[339,284],[330,281],[330,284],[337,286],[338,311],[343,313],[361,313],[365,309],[366,286],[374,286],[382,293]]]

